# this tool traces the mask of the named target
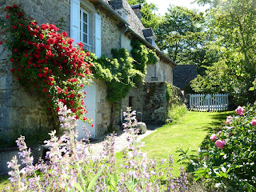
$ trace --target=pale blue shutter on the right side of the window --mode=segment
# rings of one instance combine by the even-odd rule
[[[102,24],[101,16],[95,13],[95,54],[98,58],[102,56]]]

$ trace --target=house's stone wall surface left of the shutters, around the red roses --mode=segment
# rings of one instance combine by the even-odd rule
[[[62,19],[66,24],[63,30],[70,32],[70,0],[0,0],[0,9],[14,4],[22,6],[26,14],[39,24],[49,22],[58,25]],[[3,14],[6,13],[1,11],[0,15]],[[1,33],[0,41],[5,38]],[[50,127],[45,107],[33,94],[23,90],[16,77],[10,73],[13,66],[7,54],[8,50],[0,46],[1,142],[9,142],[20,134],[31,134]]]

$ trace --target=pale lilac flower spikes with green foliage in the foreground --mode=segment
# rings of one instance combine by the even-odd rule
[[[136,141],[138,130],[134,129],[137,123],[134,111],[130,113],[129,109],[125,114],[127,123],[124,126],[130,133],[127,138],[129,146],[122,151],[125,171],[118,176],[114,157],[115,135],[106,139],[101,158],[92,158],[90,145],[86,144],[88,139],[86,142],[76,140],[76,120],[70,116],[71,111],[62,102],[58,105],[65,134],[58,138],[54,131],[50,133],[51,138],[46,141],[46,146],[50,147],[46,162],[41,160],[33,165],[25,138],[18,138],[19,154],[25,167],[19,169],[16,157],[8,162],[8,166],[14,169],[9,172],[14,191],[187,191],[186,173],[182,170],[179,178],[171,174],[171,157],[156,162],[142,153],[143,143]],[[158,164],[166,170],[162,171]],[[38,170],[40,174],[37,174]],[[161,185],[162,174],[166,174],[165,185]]]

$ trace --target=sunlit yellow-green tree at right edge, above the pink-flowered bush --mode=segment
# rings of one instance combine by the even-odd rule
[[[230,93],[237,105],[254,102],[253,93],[249,88],[256,74],[256,1],[199,0],[198,2],[210,3],[211,6],[207,19],[208,29],[214,39],[207,46],[207,50],[208,52],[216,50],[218,61],[210,70],[215,70],[217,73],[218,66],[222,64],[229,71],[219,75],[222,81],[218,83],[218,90],[226,90]],[[194,85],[203,87],[210,79],[209,75],[201,80],[198,78],[198,82],[194,82]],[[226,79],[230,79],[230,82],[225,82]],[[208,86],[208,90],[214,89],[216,86]]]

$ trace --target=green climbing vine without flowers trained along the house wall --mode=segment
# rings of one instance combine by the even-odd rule
[[[103,55],[96,58],[91,54],[93,66],[90,68],[95,78],[106,82],[109,102],[120,102],[125,98],[131,87],[143,82],[146,74],[146,64],[158,62],[158,56],[154,50],[148,49],[138,40],[132,40],[131,56],[126,49],[113,49],[113,58]]]

